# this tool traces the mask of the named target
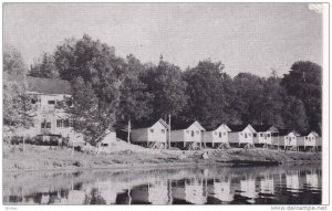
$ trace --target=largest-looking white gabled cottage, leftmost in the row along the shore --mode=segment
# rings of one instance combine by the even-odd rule
[[[148,147],[165,147],[167,141],[168,125],[162,118],[156,122],[134,124],[132,141],[146,144]]]

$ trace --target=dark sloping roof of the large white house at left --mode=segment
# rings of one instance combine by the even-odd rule
[[[27,83],[29,92],[71,95],[71,84],[65,80],[27,76]]]

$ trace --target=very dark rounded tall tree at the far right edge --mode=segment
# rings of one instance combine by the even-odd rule
[[[322,70],[321,66],[309,62],[299,61],[291,66],[281,85],[291,96],[301,99],[309,120],[309,130],[321,133],[322,123]]]

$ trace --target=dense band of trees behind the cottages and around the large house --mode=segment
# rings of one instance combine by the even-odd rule
[[[4,49],[3,123],[29,127],[15,115],[29,108],[27,97],[14,94],[19,91],[7,77],[30,75],[71,82],[73,95],[59,106],[71,115],[75,130],[91,141],[98,140],[110,126],[126,127],[160,117],[170,117],[172,123],[196,119],[206,128],[221,123],[272,124],[321,134],[320,65],[294,61],[288,74],[280,76],[272,71],[269,77],[246,70],[231,77],[224,70],[225,64],[210,60],[180,70],[162,55],[158,64],[145,64],[132,54],[117,56],[114,48],[89,35],[64,40],[29,68],[19,52]]]

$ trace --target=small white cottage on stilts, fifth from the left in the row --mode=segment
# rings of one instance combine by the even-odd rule
[[[253,134],[253,144],[256,146],[271,146],[272,135],[278,134],[279,130],[272,125],[256,125],[253,126],[257,134]]]

